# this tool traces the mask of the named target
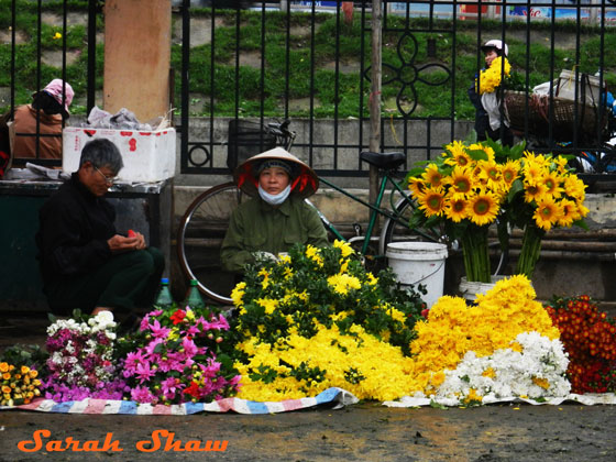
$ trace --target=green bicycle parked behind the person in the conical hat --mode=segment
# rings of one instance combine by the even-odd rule
[[[237,166],[245,158],[274,147],[271,146],[271,143],[264,144],[264,140],[274,142],[276,145],[280,145],[288,151],[295,139],[295,133],[288,130],[288,121],[270,123],[258,127],[258,129],[251,122],[245,123],[249,123],[249,125],[246,125],[246,133],[250,133],[248,138],[253,142],[260,141],[260,143],[255,143],[251,146],[250,142],[245,142],[245,140],[230,138],[228,151],[229,165]],[[238,128],[235,127],[234,129]],[[243,133],[242,130],[235,130],[234,136],[239,133]],[[241,158],[238,158],[238,156]],[[362,152],[360,158],[375,166],[380,173],[381,182],[374,204],[370,204],[354,196],[344,188],[322,177],[319,177],[319,180],[364,207],[370,208],[366,232],[362,234],[361,226],[354,223],[353,229],[355,235],[346,239],[317,209],[326,229],[331,233],[330,235],[351,242],[355,246],[361,243],[358,251],[364,256],[371,253],[371,244],[378,242],[377,257],[385,255],[387,244],[391,242],[410,240],[441,241],[442,237],[438,230],[410,229],[408,226],[410,216],[415,209],[415,204],[410,195],[407,194],[407,189],[400,185],[400,180],[396,179],[399,178],[400,174],[398,168],[406,163],[406,154],[400,152]],[[389,208],[382,207],[387,185],[392,186],[388,193]],[[242,204],[242,201],[248,199],[250,199],[250,197],[242,193],[232,182],[215,186],[199,195],[190,206],[188,206],[179,223],[177,251],[184,273],[189,278],[198,280],[198,287],[204,295],[223,305],[229,305],[232,301],[229,294],[235,285],[235,275],[222,271],[220,246],[222,245],[222,240],[232,211]],[[307,200],[307,202],[315,207],[310,201]],[[378,235],[373,235],[377,217],[384,217],[385,221],[381,233]]]

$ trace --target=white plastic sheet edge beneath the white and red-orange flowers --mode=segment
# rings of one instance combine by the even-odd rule
[[[507,397],[507,398],[484,398],[483,404],[497,404],[497,403],[527,403],[530,405],[561,405],[566,402],[575,402],[587,406],[593,405],[616,405],[616,394],[614,393],[602,393],[602,394],[587,394],[587,395],[578,395],[578,394],[569,394],[563,397],[551,398],[544,402],[537,402],[535,399],[526,399],[526,398],[518,398],[518,397]],[[450,399],[436,399],[432,400],[430,398],[415,398],[411,396],[404,396],[397,402],[385,402],[383,403],[384,406],[388,407],[420,407],[420,406],[430,406],[432,403],[441,406],[461,406],[458,400],[450,400]]]

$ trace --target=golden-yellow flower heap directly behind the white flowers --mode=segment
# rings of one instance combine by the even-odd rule
[[[548,311],[535,300],[535,289],[525,276],[499,280],[476,306],[464,299],[443,296],[430,309],[428,319],[415,324],[417,339],[410,349],[414,358],[415,392],[433,393],[444,381],[444,370],[454,370],[466,352],[477,358],[495,350],[513,348],[521,332],[537,331],[549,339],[559,338]]]

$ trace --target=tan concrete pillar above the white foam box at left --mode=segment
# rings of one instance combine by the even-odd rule
[[[170,0],[107,0],[105,110],[146,122],[169,110]]]

